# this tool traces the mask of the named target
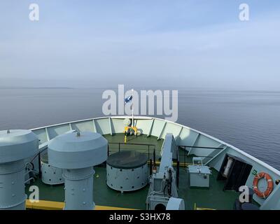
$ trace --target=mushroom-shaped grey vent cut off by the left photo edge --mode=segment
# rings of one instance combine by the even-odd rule
[[[38,153],[29,130],[0,131],[0,210],[25,209],[25,159]]]

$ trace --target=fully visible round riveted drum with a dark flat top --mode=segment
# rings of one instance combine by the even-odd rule
[[[137,151],[113,153],[107,160],[107,185],[120,192],[144,188],[148,183],[148,157]]]

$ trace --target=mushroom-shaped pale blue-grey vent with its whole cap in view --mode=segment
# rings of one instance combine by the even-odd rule
[[[65,179],[65,210],[91,210],[93,166],[107,159],[108,141],[99,133],[62,134],[48,145],[48,162],[61,168]]]

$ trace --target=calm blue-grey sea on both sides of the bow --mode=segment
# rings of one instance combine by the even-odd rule
[[[0,130],[104,116],[99,89],[0,89]],[[179,89],[179,119],[280,170],[280,92]]]

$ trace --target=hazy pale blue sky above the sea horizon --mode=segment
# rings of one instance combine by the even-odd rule
[[[0,86],[118,83],[280,90],[280,1],[0,1]]]

